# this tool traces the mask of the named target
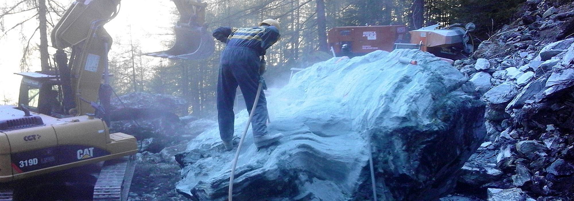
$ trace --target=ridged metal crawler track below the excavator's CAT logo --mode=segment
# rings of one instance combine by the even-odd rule
[[[94,186],[94,201],[127,200],[134,170],[133,156],[106,161]]]

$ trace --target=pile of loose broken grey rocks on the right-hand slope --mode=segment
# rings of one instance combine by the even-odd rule
[[[574,198],[574,3],[529,0],[455,65],[487,102],[487,137],[460,191],[489,201]],[[464,190],[463,190],[464,188]]]

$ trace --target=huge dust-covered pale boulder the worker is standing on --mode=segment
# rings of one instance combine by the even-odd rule
[[[257,150],[249,132],[235,199],[370,199],[369,152],[379,198],[432,200],[452,189],[486,134],[484,105],[467,78],[418,50],[339,59],[299,72],[267,98],[270,133],[285,137]],[[235,136],[246,119],[245,110],[236,115]],[[177,190],[193,200],[226,200],[233,155],[218,129],[200,134],[176,155],[183,165]]]

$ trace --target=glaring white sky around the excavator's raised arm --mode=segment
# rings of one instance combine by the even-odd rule
[[[14,2],[20,0],[5,1],[6,5],[13,5]],[[71,3],[73,0],[61,0],[60,2],[65,4],[67,2]],[[4,2],[0,2],[0,4],[3,5]],[[174,8],[173,2],[169,0],[123,0],[118,16],[104,26],[114,38],[110,57],[114,49],[118,49],[119,42],[126,43],[130,41],[130,33],[134,43],[141,44],[142,52],[156,52],[167,49],[162,47],[162,44],[172,37],[165,34],[172,33],[173,19],[177,18],[177,16],[171,14]],[[22,18],[24,18],[22,15],[7,16],[4,21],[5,28],[11,28],[20,22]],[[22,32],[29,36],[36,27],[37,20],[30,21],[24,26],[25,30],[22,30]],[[18,100],[21,76],[14,75],[14,72],[20,72],[20,59],[25,43],[20,40],[20,30],[12,30],[7,36],[0,39],[0,55],[2,55],[0,57],[0,86],[2,86],[0,90],[0,93],[2,93],[0,104],[4,104],[2,100],[5,97],[10,99],[12,104]],[[40,43],[38,33],[36,33],[31,43]],[[56,50],[49,48],[49,52],[50,55],[53,55]],[[29,64],[32,67],[30,71],[40,70],[39,57],[39,53],[31,56],[32,59],[29,61]]]

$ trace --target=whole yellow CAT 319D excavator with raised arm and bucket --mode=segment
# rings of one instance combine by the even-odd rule
[[[204,25],[207,4],[172,1],[180,14],[174,45],[146,55],[210,56],[215,42]],[[108,127],[110,117],[130,114],[114,114],[110,105],[112,40],[103,28],[120,3],[73,2],[51,34],[56,66],[16,73],[23,76],[18,107],[0,106],[0,200],[127,200],[138,144]],[[86,189],[88,195],[79,195]]]

